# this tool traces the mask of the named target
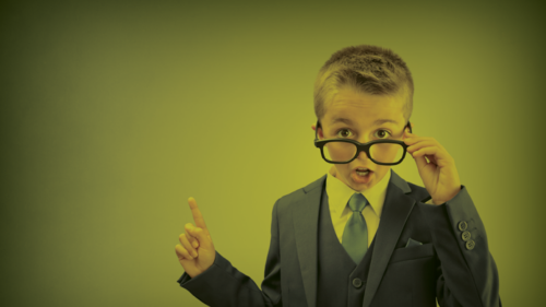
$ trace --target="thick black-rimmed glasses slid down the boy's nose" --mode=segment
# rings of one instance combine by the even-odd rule
[[[320,122],[317,120],[314,128],[314,146],[320,149],[322,158],[332,164],[345,164],[355,160],[360,152],[365,152],[369,160],[379,165],[396,165],[402,163],[406,155],[407,145],[404,141],[397,140],[375,140],[365,144],[351,139],[329,139],[319,140]],[[407,121],[404,127],[410,128],[412,133],[412,125]]]

